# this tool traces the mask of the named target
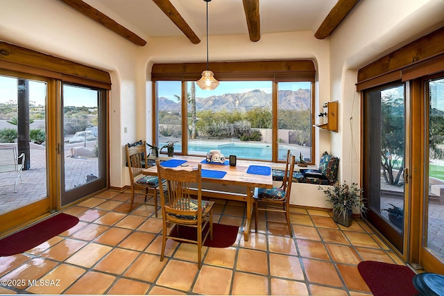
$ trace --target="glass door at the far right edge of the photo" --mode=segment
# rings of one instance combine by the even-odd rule
[[[425,193],[422,196],[419,263],[444,272],[444,78],[424,82],[426,112]]]

